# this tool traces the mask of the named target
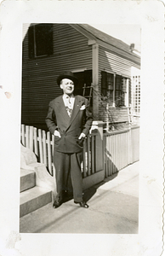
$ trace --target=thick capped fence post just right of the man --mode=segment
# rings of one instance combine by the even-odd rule
[[[96,134],[95,137],[95,170],[99,172],[104,169],[103,154],[103,121],[93,121],[90,132]]]

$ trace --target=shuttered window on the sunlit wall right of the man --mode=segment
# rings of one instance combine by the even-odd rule
[[[111,106],[128,107],[131,102],[130,79],[115,73],[101,72],[101,94],[107,96]]]

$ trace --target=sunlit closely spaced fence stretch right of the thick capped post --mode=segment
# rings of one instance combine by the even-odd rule
[[[105,133],[103,139],[105,177],[139,160],[139,126]]]

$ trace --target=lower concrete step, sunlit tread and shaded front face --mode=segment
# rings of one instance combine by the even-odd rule
[[[37,210],[52,201],[52,191],[34,187],[20,193],[20,217]]]

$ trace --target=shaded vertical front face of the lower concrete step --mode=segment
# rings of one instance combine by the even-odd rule
[[[49,191],[43,195],[39,195],[31,201],[26,201],[20,204],[20,217],[37,210],[38,208],[44,207],[52,201],[52,192]]]

